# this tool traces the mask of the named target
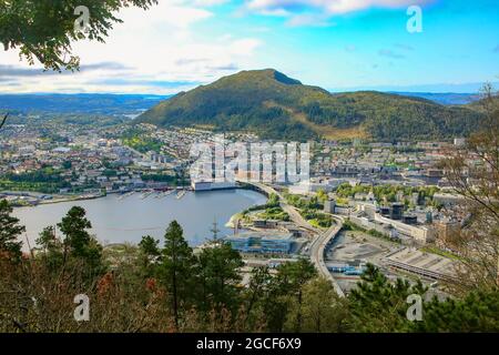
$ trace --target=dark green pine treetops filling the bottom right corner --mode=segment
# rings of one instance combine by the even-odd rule
[[[349,314],[346,323],[355,332],[425,332],[469,333],[498,332],[499,292],[472,291],[462,298],[425,301],[427,290],[418,282],[409,284],[398,278],[388,280],[373,265],[361,276],[363,281],[348,295]],[[407,297],[422,298],[421,321],[407,320]]]

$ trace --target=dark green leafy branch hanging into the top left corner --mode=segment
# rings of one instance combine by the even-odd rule
[[[147,9],[155,0],[16,0],[0,1],[0,42],[4,50],[18,49],[30,64],[39,60],[45,69],[77,70],[80,59],[71,54],[73,41],[89,39],[104,42],[115,17],[124,7]],[[74,9],[88,7],[90,31],[86,34],[74,30]]]

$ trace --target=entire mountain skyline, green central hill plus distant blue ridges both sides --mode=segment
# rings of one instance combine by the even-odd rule
[[[251,131],[264,139],[450,139],[479,125],[477,94],[330,93],[273,70],[243,71],[174,97],[0,94],[0,113],[138,118],[161,126]]]

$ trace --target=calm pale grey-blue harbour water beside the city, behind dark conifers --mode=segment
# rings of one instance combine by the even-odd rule
[[[180,200],[175,194],[161,199],[152,194],[142,199],[140,193],[135,193],[121,200],[113,194],[96,200],[21,207],[16,209],[13,214],[26,225],[31,247],[43,227],[55,225],[75,205],[85,209],[92,222],[91,233],[104,244],[136,244],[143,235],[163,241],[169,223],[176,220],[184,229],[186,240],[195,246],[212,236],[214,220],[220,230],[218,236],[224,236],[233,233],[224,226],[233,214],[265,201],[264,195],[246,190],[190,192]]]

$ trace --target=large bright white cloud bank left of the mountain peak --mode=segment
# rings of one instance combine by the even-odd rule
[[[238,68],[252,67],[262,40],[233,34],[210,38],[200,30],[204,21],[214,19],[208,7],[222,2],[224,0],[161,0],[149,11],[124,9],[118,14],[123,23],[114,26],[106,43],[82,41],[73,45],[82,64],[114,62],[123,68],[22,80],[11,77],[4,81],[2,78],[0,92],[173,93]],[[14,51],[0,51],[0,63],[10,65],[11,70],[42,70],[41,65],[20,62]]]

